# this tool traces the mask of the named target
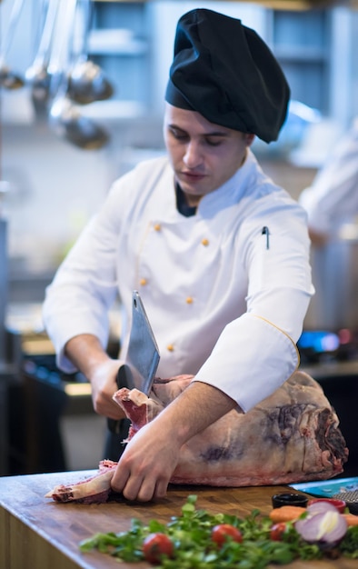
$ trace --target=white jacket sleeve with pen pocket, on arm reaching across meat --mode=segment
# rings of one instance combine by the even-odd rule
[[[285,221],[290,215],[292,219]],[[250,229],[244,232],[247,312],[224,327],[194,377],[224,391],[244,412],[273,394],[297,368],[295,343],[314,292],[304,212],[272,213],[270,218],[269,248],[260,236],[250,238]]]

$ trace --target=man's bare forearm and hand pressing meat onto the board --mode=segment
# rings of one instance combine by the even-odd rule
[[[213,385],[190,384],[134,434],[115,469],[114,492],[142,502],[163,498],[183,444],[234,408],[240,411],[231,397]]]

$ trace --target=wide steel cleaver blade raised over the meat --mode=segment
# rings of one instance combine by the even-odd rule
[[[144,304],[138,291],[132,294],[132,326],[128,351],[124,365],[118,370],[118,388],[139,389],[150,394],[155,373],[159,364],[159,350],[152,326],[145,313]]]

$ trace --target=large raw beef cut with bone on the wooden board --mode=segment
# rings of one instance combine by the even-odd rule
[[[150,397],[137,389],[117,391],[114,400],[132,422],[128,438],[173,401],[192,377],[156,379]],[[348,457],[338,424],[322,387],[296,372],[249,413],[233,410],[184,444],[171,483],[257,486],[331,478],[343,472]],[[110,494],[115,465],[104,461],[90,480],[56,486],[46,497],[103,502]]]

